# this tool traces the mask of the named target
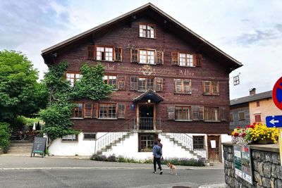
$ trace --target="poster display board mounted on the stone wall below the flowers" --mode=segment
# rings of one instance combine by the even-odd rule
[[[252,184],[252,162],[249,146],[234,146],[235,175]]]

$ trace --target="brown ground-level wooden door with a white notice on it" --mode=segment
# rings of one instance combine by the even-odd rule
[[[219,161],[219,136],[207,136],[207,153],[209,161]]]

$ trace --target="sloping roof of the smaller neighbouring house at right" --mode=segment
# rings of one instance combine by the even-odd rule
[[[258,100],[269,99],[269,98],[272,98],[272,90],[268,92],[259,93],[259,94],[253,94],[250,96],[244,96],[238,99],[233,99],[230,101],[230,105],[233,106],[237,104],[244,104],[244,103],[249,103],[252,101],[258,101]]]

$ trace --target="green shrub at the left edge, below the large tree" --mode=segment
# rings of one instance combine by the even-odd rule
[[[0,123],[0,148],[4,153],[8,152],[10,146],[11,129],[8,123]]]

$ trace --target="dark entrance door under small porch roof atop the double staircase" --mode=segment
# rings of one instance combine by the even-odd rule
[[[139,130],[154,130],[154,104],[139,105]]]

